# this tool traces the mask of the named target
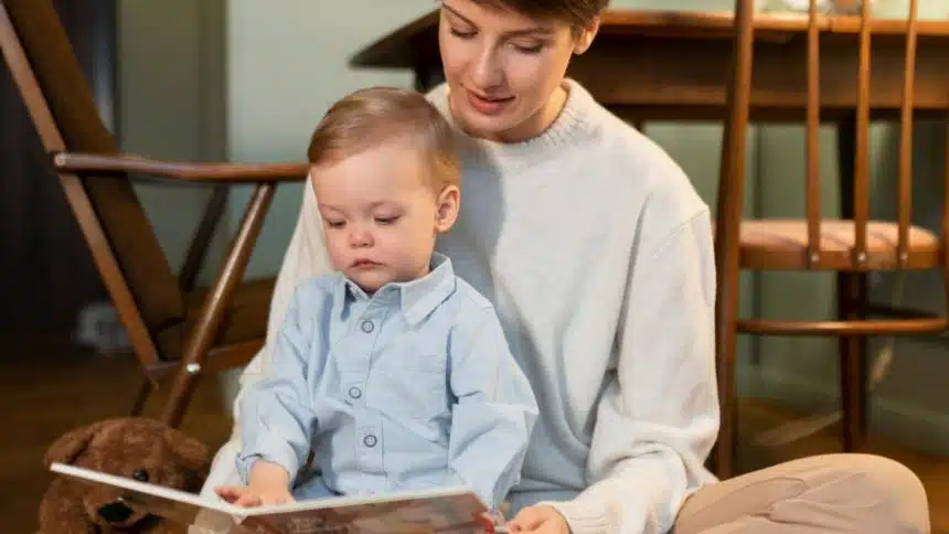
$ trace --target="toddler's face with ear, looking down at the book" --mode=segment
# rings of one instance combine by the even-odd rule
[[[333,267],[373,292],[428,273],[435,237],[457,217],[458,189],[437,194],[417,148],[392,141],[310,175]]]

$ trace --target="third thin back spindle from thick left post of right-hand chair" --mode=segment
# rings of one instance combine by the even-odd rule
[[[916,82],[916,17],[917,0],[909,0],[906,28],[906,60],[903,72],[903,106],[899,117],[899,178],[897,195],[898,237],[896,261],[906,265],[909,250],[909,224],[913,210],[913,107]]]

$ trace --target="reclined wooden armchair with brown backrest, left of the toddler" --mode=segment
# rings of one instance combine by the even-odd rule
[[[146,372],[132,413],[159,378],[173,373],[162,417],[178,426],[200,375],[244,365],[263,344],[274,280],[242,278],[277,185],[305,180],[307,165],[162,162],[120,153],[50,0],[0,0],[0,51]],[[131,173],[215,186],[178,276]],[[235,183],[255,184],[254,192],[213,285],[196,288],[226,186]]]

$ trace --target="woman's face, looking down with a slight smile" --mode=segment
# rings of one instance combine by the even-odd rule
[[[571,56],[586,52],[599,21],[582,32],[474,0],[441,0],[438,41],[449,105],[470,136],[531,139],[563,107]]]

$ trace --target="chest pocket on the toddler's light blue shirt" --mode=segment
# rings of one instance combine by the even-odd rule
[[[365,402],[395,419],[428,423],[448,412],[446,357],[423,354],[412,360],[374,364]]]

